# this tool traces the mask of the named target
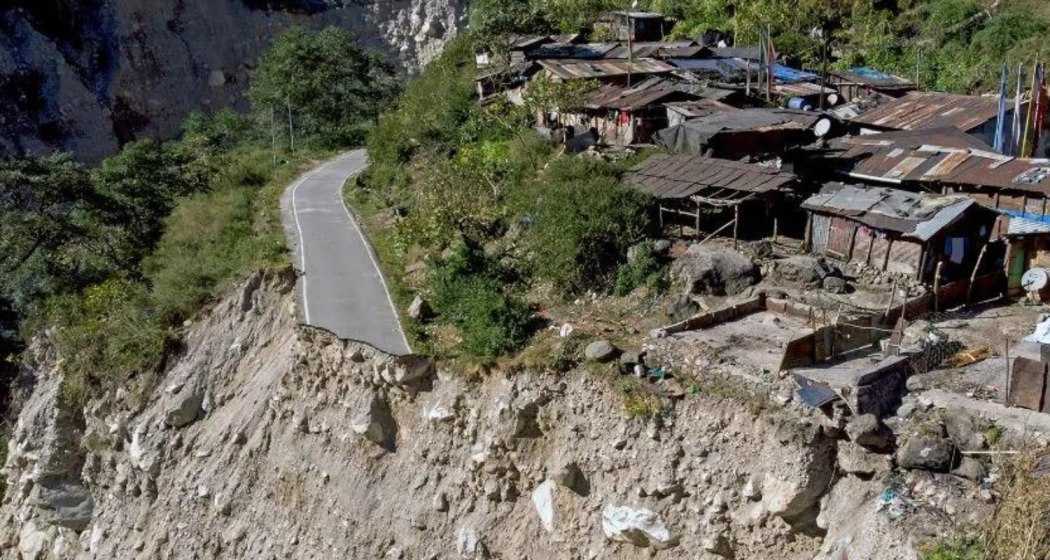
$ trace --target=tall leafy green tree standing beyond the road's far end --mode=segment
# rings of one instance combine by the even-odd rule
[[[393,67],[337,27],[293,27],[262,56],[249,88],[260,121],[326,146],[360,144],[397,92]]]

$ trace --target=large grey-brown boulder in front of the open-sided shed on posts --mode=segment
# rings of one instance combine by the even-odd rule
[[[672,278],[689,293],[736,295],[758,283],[758,267],[732,249],[693,245],[671,267]]]

